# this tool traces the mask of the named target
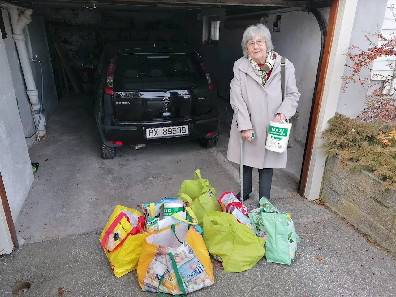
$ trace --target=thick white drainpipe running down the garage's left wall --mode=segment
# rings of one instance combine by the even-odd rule
[[[47,134],[45,127],[46,120],[44,115],[42,115],[40,123],[38,123],[40,116],[40,100],[38,99],[38,90],[36,88],[36,83],[34,82],[32,67],[30,66],[30,59],[25,43],[25,34],[23,34],[23,29],[32,21],[30,15],[32,14],[33,10],[25,9],[22,13],[19,13],[17,8],[10,8],[9,12],[12,30],[14,33],[12,34],[12,38],[17,46],[19,61],[21,62],[23,77],[25,78],[25,84],[27,88],[26,92],[29,96],[30,103],[32,104],[34,122],[36,125],[38,125],[38,135],[45,136]]]

